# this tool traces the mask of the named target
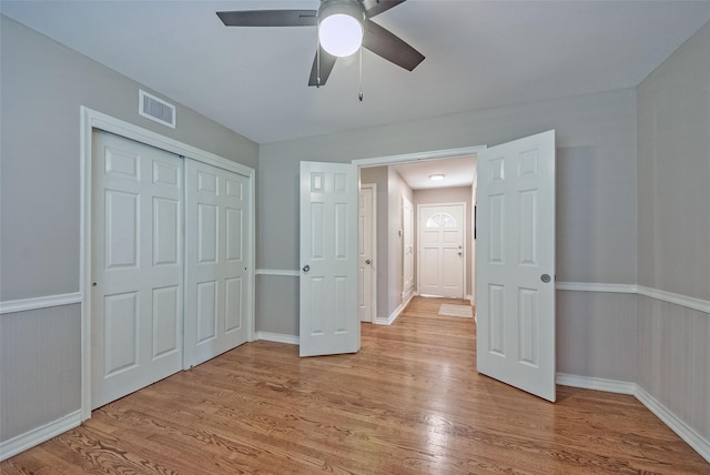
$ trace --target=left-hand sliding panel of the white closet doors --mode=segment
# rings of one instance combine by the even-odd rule
[[[180,156],[93,134],[92,386],[100,407],[182,368]]]

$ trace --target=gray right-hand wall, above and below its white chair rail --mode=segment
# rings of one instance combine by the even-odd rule
[[[638,282],[710,300],[710,23],[638,87]],[[639,296],[637,382],[710,444],[710,314]]]

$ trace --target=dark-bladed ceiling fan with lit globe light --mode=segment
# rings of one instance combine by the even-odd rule
[[[405,0],[321,0],[317,10],[217,11],[226,27],[318,27],[316,51],[308,85],[325,84],[338,57],[359,50],[361,44],[408,71],[424,55],[371,19]],[[351,40],[354,39],[354,43]],[[346,44],[348,43],[348,44]]]

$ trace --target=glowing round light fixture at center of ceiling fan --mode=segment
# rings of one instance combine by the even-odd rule
[[[325,2],[318,18],[318,41],[325,51],[344,58],[359,50],[365,34],[365,11],[359,3]]]

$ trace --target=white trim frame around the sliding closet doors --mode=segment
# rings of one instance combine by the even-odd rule
[[[92,131],[104,130],[125,139],[152,145],[180,156],[219,166],[250,180],[250,245],[247,292],[247,341],[254,340],[254,263],[255,263],[255,192],[254,169],[215,155],[186,143],[152,132],[111,115],[81,107],[80,124],[80,242],[79,293],[81,294],[81,420],[91,417],[91,192],[92,192]]]

